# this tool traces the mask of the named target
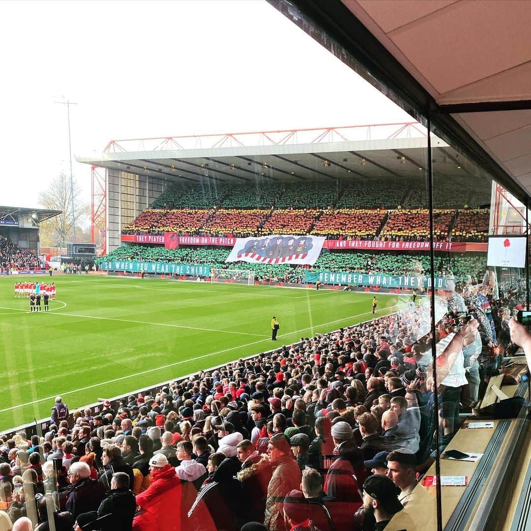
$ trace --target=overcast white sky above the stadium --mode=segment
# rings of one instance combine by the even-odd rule
[[[262,0],[0,2],[0,204],[111,139],[410,121]],[[90,201],[90,167],[73,160]]]

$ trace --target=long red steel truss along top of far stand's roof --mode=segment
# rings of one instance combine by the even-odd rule
[[[220,133],[182,136],[160,136],[111,140],[104,152],[164,151],[171,149],[212,149],[236,146],[284,145],[348,140],[390,140],[423,138],[426,129],[418,122],[389,124],[314,127],[311,129],[283,129],[247,133]]]

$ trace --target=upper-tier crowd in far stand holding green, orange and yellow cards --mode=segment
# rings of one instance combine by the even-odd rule
[[[402,208],[395,201],[396,194],[404,199],[404,188],[396,183],[348,183],[343,187],[337,183],[286,183],[281,189],[270,184],[218,185],[206,192],[173,185],[153,208],[143,211],[122,232],[240,237],[278,232],[331,239],[425,241],[430,235],[429,211],[423,202],[425,191],[413,186],[406,190],[409,192],[405,203],[409,208]],[[386,201],[379,204],[379,198]],[[422,207],[414,208],[419,203]],[[485,241],[488,227],[488,209],[434,210],[438,241]]]

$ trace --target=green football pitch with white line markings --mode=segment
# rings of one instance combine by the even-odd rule
[[[29,313],[22,278],[0,277],[0,433],[48,417],[56,395],[73,410],[372,316],[369,293],[93,275],[55,276],[50,311]],[[379,315],[405,305],[378,298]]]

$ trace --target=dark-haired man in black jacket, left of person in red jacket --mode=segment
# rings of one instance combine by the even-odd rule
[[[98,508],[98,517],[110,515],[100,521],[101,531],[131,531],[136,500],[129,485],[127,474],[124,472],[113,474],[110,480],[110,494]]]

